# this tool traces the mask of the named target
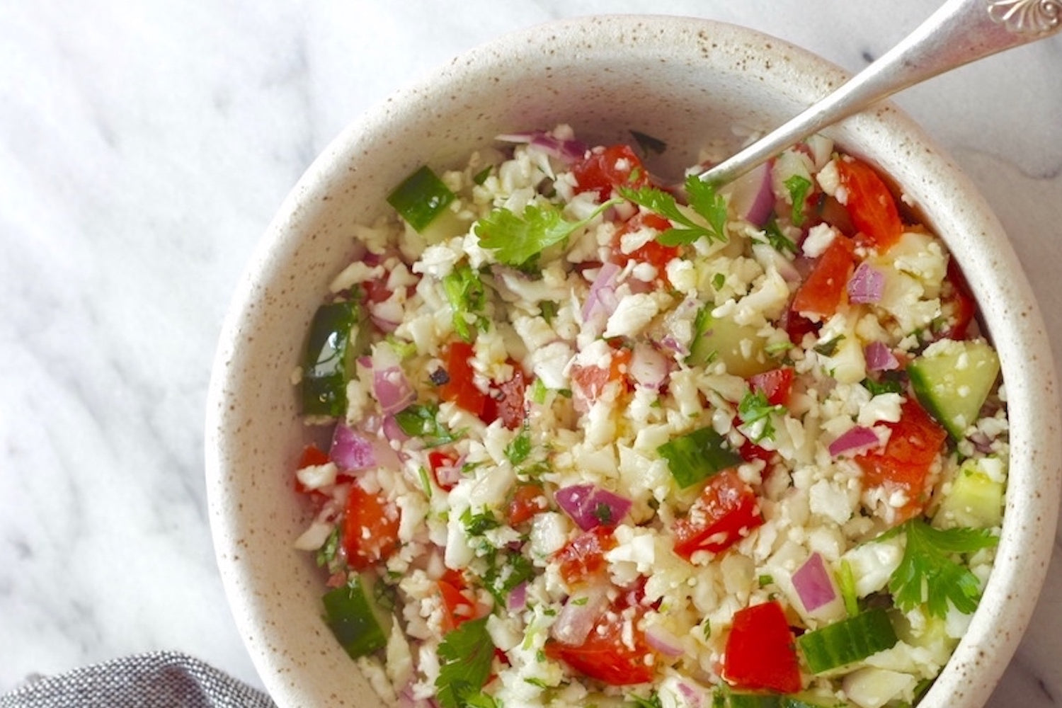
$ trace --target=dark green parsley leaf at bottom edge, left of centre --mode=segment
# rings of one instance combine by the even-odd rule
[[[493,698],[482,693],[491,677],[494,642],[486,632],[486,617],[464,622],[439,644],[439,677],[435,679],[436,700],[443,708],[484,708]],[[490,703],[484,703],[490,698]]]

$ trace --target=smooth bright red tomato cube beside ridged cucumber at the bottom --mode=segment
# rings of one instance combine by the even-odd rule
[[[777,601],[734,612],[723,655],[723,678],[739,689],[777,693],[801,690],[793,633]]]

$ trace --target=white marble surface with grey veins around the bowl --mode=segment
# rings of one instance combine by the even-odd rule
[[[935,6],[0,0],[0,692],[154,649],[260,685],[215,567],[204,397],[237,275],[352,117],[552,18],[700,15],[858,69]],[[1062,349],[1062,37],[898,103],[988,195]],[[1057,550],[991,705],[1062,702],[1060,668]]]

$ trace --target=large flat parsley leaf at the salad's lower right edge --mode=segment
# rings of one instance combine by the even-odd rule
[[[991,548],[996,536],[988,529],[935,529],[922,519],[905,521],[895,532],[907,537],[904,557],[889,579],[896,607],[909,611],[925,603],[930,616],[941,618],[949,602],[963,614],[977,609],[980,583],[954,556]]]

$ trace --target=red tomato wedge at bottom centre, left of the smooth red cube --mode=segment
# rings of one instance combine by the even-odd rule
[[[582,644],[571,646],[548,641],[546,656],[610,686],[646,684],[653,678],[653,652],[645,634],[638,629],[640,614],[610,608],[601,615]],[[631,639],[631,645],[624,641],[624,636]]]

